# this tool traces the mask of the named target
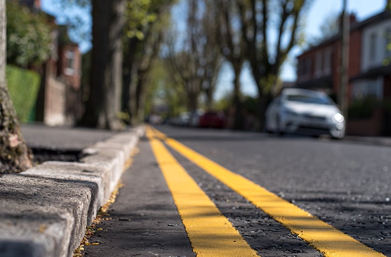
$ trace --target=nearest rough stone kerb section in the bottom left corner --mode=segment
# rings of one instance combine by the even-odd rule
[[[0,191],[0,242],[29,242],[32,253],[45,250],[42,256],[53,257],[70,256],[80,244],[91,202],[89,186],[20,174],[2,176]],[[16,257],[15,250],[2,254]]]

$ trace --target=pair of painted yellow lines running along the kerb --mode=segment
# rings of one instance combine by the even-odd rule
[[[256,252],[248,246],[161,141],[272,216],[326,257],[384,257],[328,223],[158,130],[147,127],[147,137],[197,256],[242,257],[256,256]]]

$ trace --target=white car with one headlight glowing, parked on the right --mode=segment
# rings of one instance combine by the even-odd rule
[[[266,109],[265,129],[268,132],[329,134],[342,138],[345,123],[335,102],[326,93],[315,90],[286,88]]]

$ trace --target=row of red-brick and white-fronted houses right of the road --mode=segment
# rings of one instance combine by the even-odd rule
[[[364,21],[350,16],[347,88],[351,107],[359,100],[374,96],[380,103],[391,99],[391,13],[387,10]],[[337,34],[297,56],[296,87],[323,90],[335,100],[341,85],[342,35]],[[380,105],[379,105],[380,106]],[[390,118],[390,117],[389,117]],[[375,108],[369,117],[348,117],[347,133],[356,135],[389,134],[387,115]]]

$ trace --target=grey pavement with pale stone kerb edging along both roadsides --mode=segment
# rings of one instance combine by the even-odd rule
[[[81,162],[44,162],[0,177],[0,256],[70,257],[107,202],[144,127],[99,129],[22,126],[34,148],[80,150]],[[391,138],[346,136],[391,146]]]

